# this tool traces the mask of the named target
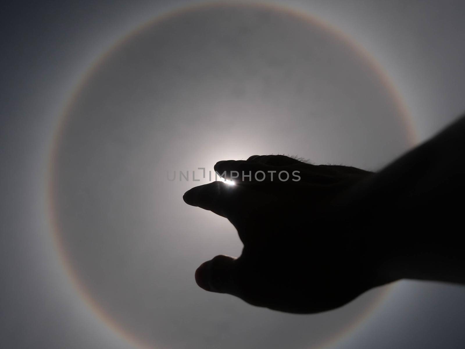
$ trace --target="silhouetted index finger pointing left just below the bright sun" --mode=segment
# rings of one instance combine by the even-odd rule
[[[214,181],[186,191],[182,198],[188,205],[210,210],[226,217],[228,208],[232,206],[234,191],[237,190],[221,181]]]

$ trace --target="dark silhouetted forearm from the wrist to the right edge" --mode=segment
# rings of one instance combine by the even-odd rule
[[[465,283],[464,196],[462,117],[352,188],[344,204],[369,221],[366,238],[383,280]]]

